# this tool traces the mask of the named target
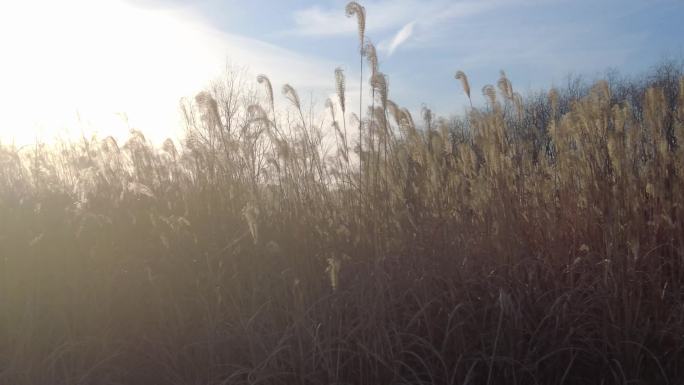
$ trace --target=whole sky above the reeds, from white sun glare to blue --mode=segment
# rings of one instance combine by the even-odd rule
[[[684,58],[682,0],[373,0],[366,36],[390,98],[448,116],[505,70],[530,92],[609,69],[630,75]],[[0,141],[81,133],[160,142],[182,130],[178,103],[225,72],[267,74],[321,109],[334,70],[358,90],[356,22],[346,1],[3,0]],[[368,70],[366,69],[366,74]],[[284,102],[283,102],[284,103]],[[351,104],[351,103],[350,103]]]

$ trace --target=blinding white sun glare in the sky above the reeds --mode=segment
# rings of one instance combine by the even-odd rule
[[[0,5],[0,141],[180,132],[178,103],[222,66],[202,22],[120,0]]]

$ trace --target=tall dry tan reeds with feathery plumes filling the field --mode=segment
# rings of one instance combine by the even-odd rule
[[[412,117],[354,4],[361,111],[0,147],[0,384],[684,383],[682,66]]]

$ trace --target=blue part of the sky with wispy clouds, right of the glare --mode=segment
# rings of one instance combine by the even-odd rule
[[[341,65],[350,75],[357,71],[356,25],[344,16],[346,1],[136,3],[185,9],[222,31]],[[442,114],[460,112],[465,103],[453,79],[457,69],[468,74],[475,90],[495,82],[504,69],[524,92],[561,84],[570,73],[592,78],[615,68],[634,74],[663,58],[684,57],[681,0],[361,3],[367,10],[367,36],[378,46],[381,70],[389,75],[391,97],[412,108],[426,103]],[[403,39],[392,47],[400,33]],[[294,74],[296,68],[291,71],[294,82],[300,75]]]

